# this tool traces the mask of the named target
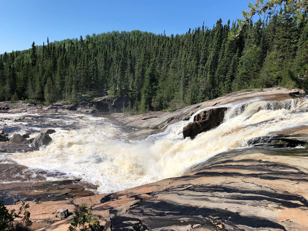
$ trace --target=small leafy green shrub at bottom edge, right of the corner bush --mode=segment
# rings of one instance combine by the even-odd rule
[[[104,226],[99,224],[97,217],[92,217],[92,212],[87,208],[87,204],[80,205],[75,209],[73,221],[67,231],[103,231]]]

